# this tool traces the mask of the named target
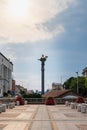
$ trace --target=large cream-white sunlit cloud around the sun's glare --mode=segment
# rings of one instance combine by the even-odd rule
[[[45,23],[56,19],[56,15],[67,9],[74,0],[32,0],[23,19],[10,14],[11,1],[14,0],[0,1],[0,43],[35,42],[61,34],[64,32],[61,24],[56,24],[50,31]]]

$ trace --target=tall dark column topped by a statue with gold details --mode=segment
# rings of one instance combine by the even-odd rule
[[[42,54],[42,57],[39,59],[41,61],[41,94],[44,94],[44,65],[47,58],[48,56]]]

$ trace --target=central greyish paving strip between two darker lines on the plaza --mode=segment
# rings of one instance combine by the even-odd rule
[[[39,105],[31,129],[29,130],[53,130],[45,105]]]

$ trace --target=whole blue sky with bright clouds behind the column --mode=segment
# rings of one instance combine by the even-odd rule
[[[45,90],[87,67],[87,0],[0,0],[0,52],[13,63],[16,84]]]

